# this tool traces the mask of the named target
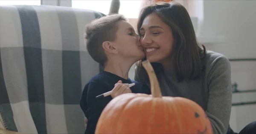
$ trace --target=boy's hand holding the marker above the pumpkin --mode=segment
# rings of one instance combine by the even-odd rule
[[[122,81],[118,81],[112,89],[111,97],[115,98],[116,96],[125,93],[131,93],[131,89],[128,87],[128,84],[122,84]]]

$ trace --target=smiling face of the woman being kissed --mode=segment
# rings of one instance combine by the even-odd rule
[[[150,62],[159,62],[171,58],[174,38],[169,25],[155,13],[149,14],[140,27],[141,44]]]

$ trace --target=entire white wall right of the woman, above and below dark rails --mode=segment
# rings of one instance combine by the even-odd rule
[[[201,36],[225,36],[224,44],[206,45],[207,49],[228,58],[256,58],[256,0],[204,0]],[[232,81],[238,89],[256,89],[256,61],[231,62]],[[233,102],[256,100],[255,94],[234,94]],[[230,126],[239,132],[256,120],[256,105],[233,106]]]

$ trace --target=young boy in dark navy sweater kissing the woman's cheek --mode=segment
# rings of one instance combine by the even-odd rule
[[[85,134],[95,133],[100,114],[116,96],[129,92],[150,93],[142,88],[142,84],[128,78],[131,66],[145,57],[139,38],[120,14],[99,18],[86,26],[88,53],[104,67],[104,71],[91,78],[82,92],[80,106],[88,120]],[[127,84],[131,83],[135,86],[128,88]],[[111,90],[111,95],[96,98]]]

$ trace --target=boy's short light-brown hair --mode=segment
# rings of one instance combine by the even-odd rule
[[[86,25],[84,35],[87,51],[93,60],[102,66],[104,66],[107,61],[102,43],[116,39],[116,31],[118,30],[116,22],[120,20],[127,21],[123,15],[113,14],[93,20],[90,24]]]

